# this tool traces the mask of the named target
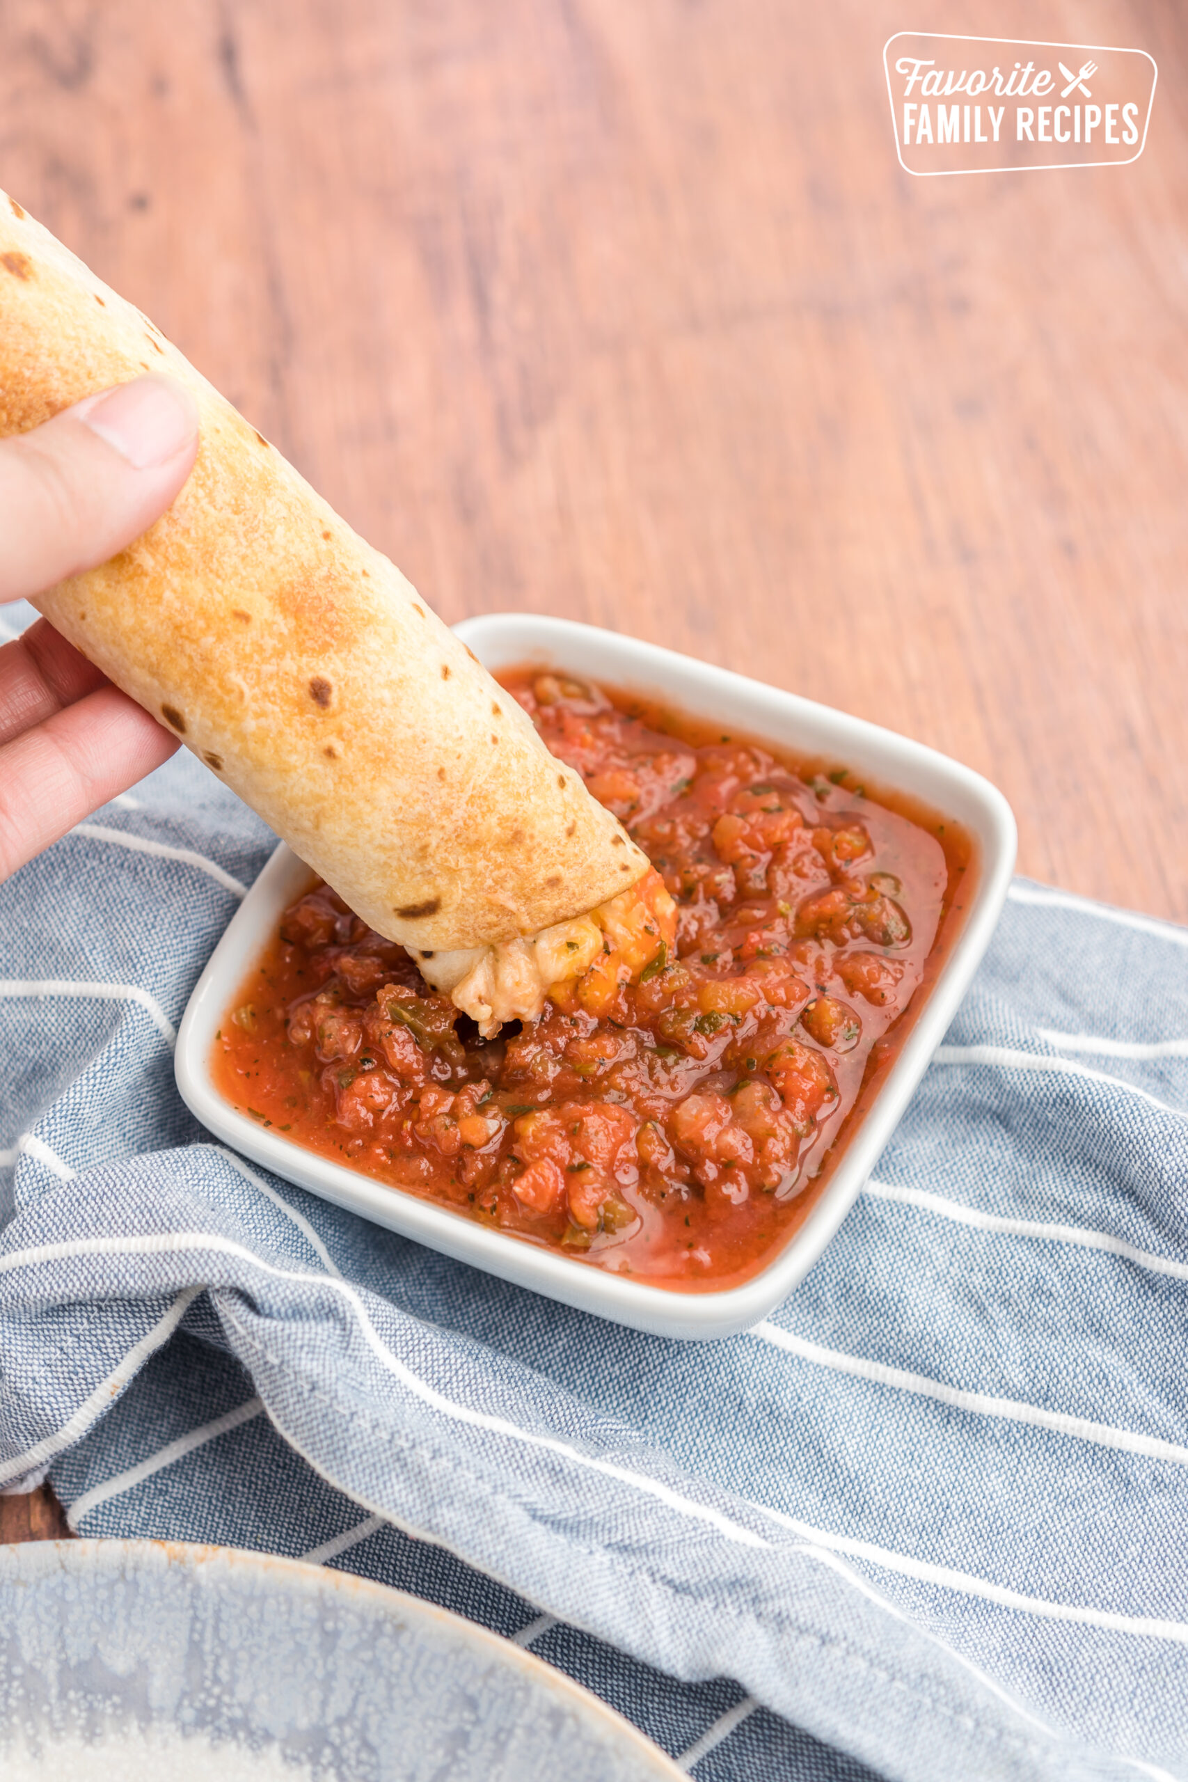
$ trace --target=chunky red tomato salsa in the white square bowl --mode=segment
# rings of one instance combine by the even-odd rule
[[[743,1281],[901,1044],[969,841],[663,706],[500,679],[654,862],[602,953],[484,1041],[315,880],[226,1014],[216,1082],[294,1144],[525,1242],[661,1287]]]

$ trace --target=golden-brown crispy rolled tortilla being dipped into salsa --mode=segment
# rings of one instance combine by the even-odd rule
[[[194,470],[134,545],[41,595],[45,617],[426,964],[467,950],[465,978],[641,879],[647,857],[401,572],[0,194],[0,435],[146,371],[198,403]],[[538,987],[550,957],[533,952]],[[502,960],[493,996],[470,985],[488,1025]]]

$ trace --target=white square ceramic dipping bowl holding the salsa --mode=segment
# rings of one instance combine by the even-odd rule
[[[663,1336],[732,1336],[764,1319],[821,1255],[944,1037],[989,946],[1010,884],[1015,862],[1010,805],[980,773],[935,748],[652,643],[529,613],[468,618],[458,625],[458,636],[492,670],[524,663],[568,670],[654,695],[677,711],[721,722],[743,738],[768,741],[793,756],[835,761],[867,779],[875,795],[880,789],[907,793],[971,836],[964,927],[949,943],[924,1005],[914,1009],[914,1025],[878,1094],[846,1130],[839,1160],[807,1217],[771,1262],[741,1287],[698,1292],[648,1287],[372,1181],[240,1114],[216,1089],[210,1055],[235,991],[276,932],[281,911],[308,880],[308,868],[283,843],[232,918],[189,1000],[176,1048],[178,1089],[203,1126],[235,1151],[431,1249],[636,1329]]]

